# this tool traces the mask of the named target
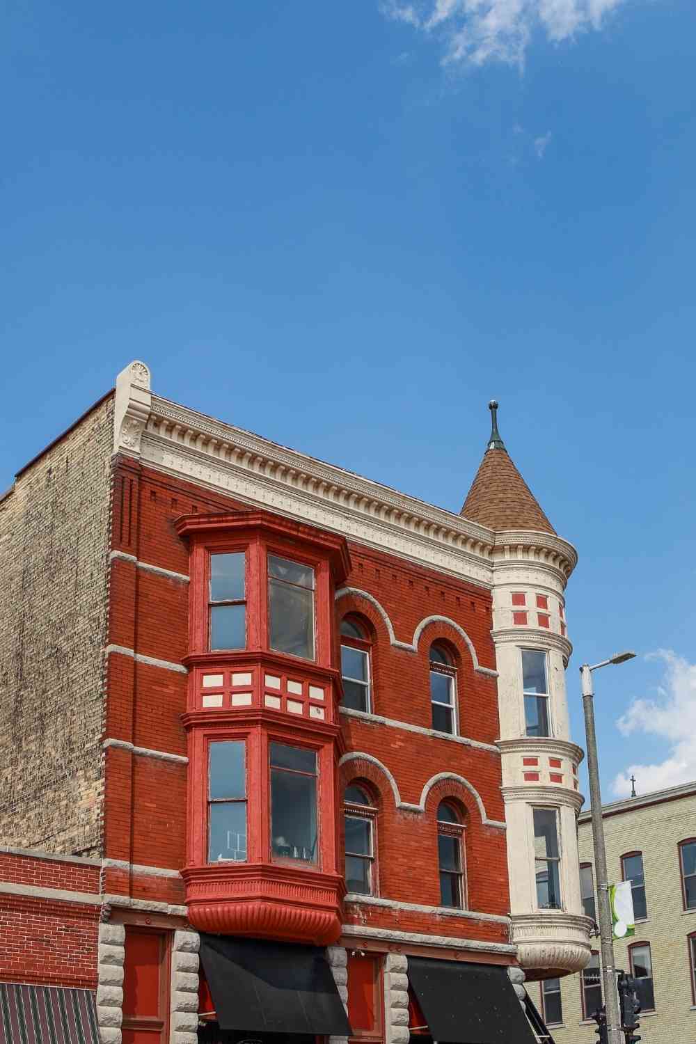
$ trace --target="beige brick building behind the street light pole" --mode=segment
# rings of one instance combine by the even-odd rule
[[[645,1044],[696,1042],[696,782],[614,802],[603,809],[609,882],[633,881],[635,934],[615,943],[617,967],[642,979]],[[585,912],[596,875],[590,812],[578,818]],[[592,870],[592,883],[590,873]],[[642,877],[641,877],[642,871]],[[599,939],[593,950],[599,950]],[[593,965],[596,968],[593,969]],[[595,1042],[599,963],[530,987],[555,1044]],[[649,973],[649,974],[646,974]],[[650,1009],[650,1010],[649,1010]]]

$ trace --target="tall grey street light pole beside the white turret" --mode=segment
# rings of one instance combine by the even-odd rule
[[[595,873],[597,875],[597,910],[599,914],[599,934],[602,951],[602,978],[604,981],[604,1007],[606,1012],[606,1030],[608,1044],[624,1044],[619,1014],[619,994],[617,991],[616,968],[614,964],[614,931],[611,926],[611,906],[609,903],[609,883],[606,872],[606,846],[604,844],[604,821],[602,818],[602,796],[599,786],[599,765],[597,761],[597,734],[595,732],[595,709],[593,706],[593,670],[606,667],[609,664],[624,663],[631,660],[634,652],[619,652],[610,660],[603,660],[593,667],[584,663],[580,667],[582,681],[582,709],[584,711],[584,731],[587,748],[587,774],[590,776],[590,804],[592,811],[592,835],[595,847]]]

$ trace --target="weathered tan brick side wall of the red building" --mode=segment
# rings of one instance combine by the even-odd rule
[[[0,844],[99,854],[113,398],[0,503]]]

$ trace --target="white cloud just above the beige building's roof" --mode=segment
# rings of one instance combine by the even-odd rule
[[[617,727],[624,736],[644,733],[666,740],[664,761],[632,764],[614,780],[617,798],[630,796],[630,777],[639,793],[677,786],[696,779],[696,664],[661,649],[651,659],[665,663],[665,679],[654,699],[633,699]]]

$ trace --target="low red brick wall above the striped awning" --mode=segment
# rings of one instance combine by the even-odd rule
[[[0,852],[0,880],[44,893],[1,895],[0,981],[94,989],[100,907],[50,889],[98,893],[98,864]]]

